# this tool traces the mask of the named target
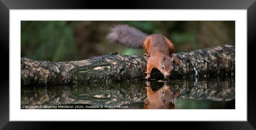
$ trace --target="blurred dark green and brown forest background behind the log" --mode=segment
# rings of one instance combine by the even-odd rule
[[[74,61],[118,52],[143,55],[109,43],[114,24],[128,24],[147,34],[163,34],[177,52],[235,45],[235,21],[21,21],[21,57],[33,60]]]

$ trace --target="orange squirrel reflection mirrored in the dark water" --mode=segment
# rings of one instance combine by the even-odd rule
[[[150,82],[147,84],[147,99],[144,101],[143,109],[174,109],[173,98],[179,95],[179,90],[174,94],[170,86],[164,82],[163,87],[157,91],[153,91]]]

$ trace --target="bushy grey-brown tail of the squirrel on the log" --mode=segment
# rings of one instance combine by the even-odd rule
[[[131,48],[143,48],[143,42],[147,34],[128,25],[115,25],[107,39],[112,43],[119,43]]]

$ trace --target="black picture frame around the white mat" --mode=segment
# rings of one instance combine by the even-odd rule
[[[255,63],[256,2],[255,0],[136,0],[136,1],[93,1],[93,0],[0,0],[0,45],[1,45],[1,85],[0,85],[0,128],[3,129],[53,129],[50,124],[59,129],[67,125],[63,122],[16,122],[9,121],[9,10],[10,9],[247,9],[247,122],[217,121],[217,122],[168,122],[168,127],[181,126],[189,129],[254,129],[256,128],[256,96],[253,79]],[[241,44],[241,43],[236,43]],[[7,57],[8,55],[8,57]],[[246,63],[244,63],[246,64]],[[7,69],[9,68],[9,69]],[[246,76],[246,75],[245,75]],[[239,79],[237,79],[239,80]],[[243,87],[243,86],[237,86]],[[64,122],[67,124],[68,122]],[[70,123],[70,122],[69,122]],[[74,122],[73,128],[84,125],[84,122]],[[101,122],[100,124],[110,122]],[[123,127],[130,122],[118,122]],[[106,126],[106,125],[100,126]],[[115,124],[115,123],[114,123]],[[143,123],[141,123],[143,124]],[[185,124],[185,125],[184,125]],[[153,124],[151,124],[153,125]],[[140,125],[150,127],[150,125]],[[99,126],[97,126],[99,127]],[[107,127],[107,126],[106,126]],[[113,128],[113,127],[112,127]],[[136,126],[139,128],[139,126]]]

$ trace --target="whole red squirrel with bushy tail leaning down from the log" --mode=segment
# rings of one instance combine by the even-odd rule
[[[107,35],[107,39],[112,43],[144,49],[144,56],[148,57],[145,79],[149,79],[153,68],[157,68],[166,79],[173,70],[173,61],[176,65],[179,64],[179,60],[172,57],[175,51],[174,45],[162,34],[147,35],[128,25],[115,25]]]

